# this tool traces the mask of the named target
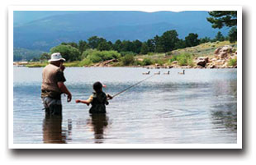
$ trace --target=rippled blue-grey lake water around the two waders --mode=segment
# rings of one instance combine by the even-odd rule
[[[68,67],[62,96],[63,117],[45,117],[40,99],[43,68],[13,67],[14,144],[236,144],[236,69],[150,69]],[[101,81],[116,94],[161,71],[110,100],[107,114],[90,116],[86,104],[92,84]],[[169,75],[164,72],[170,71]]]

